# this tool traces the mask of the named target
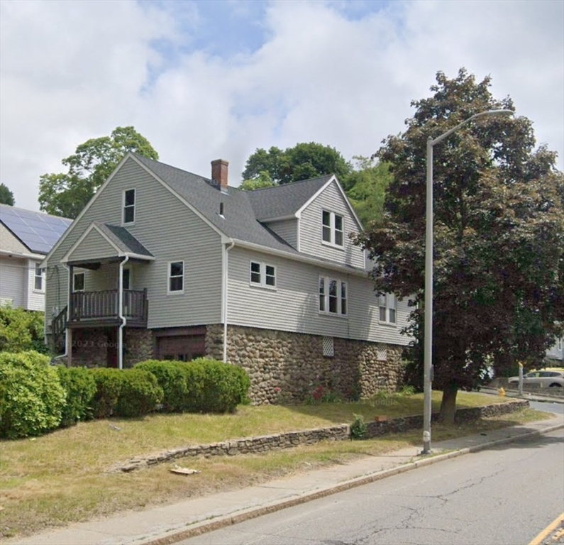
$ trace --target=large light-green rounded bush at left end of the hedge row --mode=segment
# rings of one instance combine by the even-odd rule
[[[55,429],[65,402],[65,390],[47,356],[0,353],[0,437],[16,439]]]

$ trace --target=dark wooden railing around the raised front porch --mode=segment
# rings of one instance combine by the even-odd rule
[[[127,319],[147,321],[147,290],[123,290],[123,315]],[[68,321],[117,319],[118,317],[118,290],[71,294]]]

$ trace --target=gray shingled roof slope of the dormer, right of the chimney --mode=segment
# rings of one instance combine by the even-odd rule
[[[259,221],[287,218],[294,216],[333,177],[326,175],[291,184],[255,189],[248,192],[248,198]]]

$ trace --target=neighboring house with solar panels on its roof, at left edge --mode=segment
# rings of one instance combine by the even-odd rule
[[[72,220],[0,204],[0,304],[45,309],[40,263]]]

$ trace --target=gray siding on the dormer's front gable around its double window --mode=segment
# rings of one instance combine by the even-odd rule
[[[343,216],[343,248],[322,243],[321,225],[324,210]],[[350,213],[348,204],[336,182],[332,182],[302,211],[302,217],[299,220],[299,251],[353,267],[364,268],[365,257],[362,248],[354,246],[353,241],[348,238],[351,231],[358,233],[359,229],[360,226]]]

